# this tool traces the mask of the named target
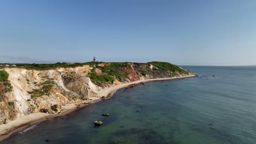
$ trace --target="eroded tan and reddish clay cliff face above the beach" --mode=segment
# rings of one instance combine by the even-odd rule
[[[22,68],[4,68],[9,74],[11,91],[5,92],[4,85],[0,83],[0,125],[8,123],[20,116],[35,112],[61,113],[62,106],[69,103],[90,103],[91,100],[100,99],[97,93],[105,87],[119,85],[137,80],[160,77],[186,76],[178,71],[159,71],[158,67],[150,64],[129,64],[118,68],[118,73],[124,77],[110,75],[112,82],[102,82],[89,78],[95,71],[96,75],[108,75],[103,67],[110,63],[97,65],[84,65],[75,68],[57,68],[50,70],[27,70]],[[102,69],[100,68],[102,67]],[[0,69],[1,70],[1,69]],[[93,77],[92,77],[93,79]]]

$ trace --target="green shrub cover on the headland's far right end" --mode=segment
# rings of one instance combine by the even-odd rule
[[[160,71],[172,71],[173,73],[175,71],[178,71],[179,74],[188,74],[188,71],[185,71],[181,68],[179,68],[177,65],[167,63],[167,62],[149,62],[149,64],[154,65],[156,68],[153,68],[153,70],[160,70]]]

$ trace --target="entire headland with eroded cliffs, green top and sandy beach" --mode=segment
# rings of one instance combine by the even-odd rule
[[[148,81],[195,76],[167,62],[1,64],[0,140]]]

